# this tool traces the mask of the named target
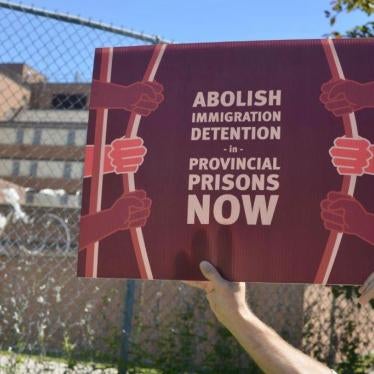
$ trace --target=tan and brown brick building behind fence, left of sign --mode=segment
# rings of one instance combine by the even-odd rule
[[[26,204],[78,207],[90,85],[0,64],[0,89],[0,178],[26,188]]]

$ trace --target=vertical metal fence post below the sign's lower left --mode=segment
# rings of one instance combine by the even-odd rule
[[[128,369],[132,317],[135,303],[135,289],[135,280],[129,279],[128,281],[126,281],[121,330],[121,351],[118,364],[119,374],[126,374]]]

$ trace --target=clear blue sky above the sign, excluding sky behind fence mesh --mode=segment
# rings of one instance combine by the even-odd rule
[[[330,0],[32,0],[24,4],[69,12],[158,34],[176,42],[319,38],[332,30],[324,16]],[[342,15],[334,29],[368,21]]]

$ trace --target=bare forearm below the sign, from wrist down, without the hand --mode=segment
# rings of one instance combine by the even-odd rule
[[[226,327],[265,373],[331,374],[329,368],[293,348],[250,311]]]

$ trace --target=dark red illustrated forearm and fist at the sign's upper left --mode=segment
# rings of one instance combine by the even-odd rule
[[[91,87],[90,108],[124,109],[148,116],[163,100],[163,86],[156,81],[139,81],[124,86],[94,79]]]

